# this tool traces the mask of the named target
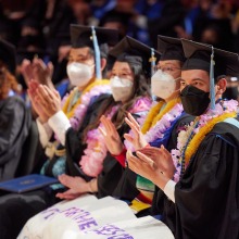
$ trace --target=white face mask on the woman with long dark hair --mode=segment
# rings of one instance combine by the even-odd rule
[[[115,101],[126,101],[131,95],[133,81],[114,76],[111,78],[111,90]]]

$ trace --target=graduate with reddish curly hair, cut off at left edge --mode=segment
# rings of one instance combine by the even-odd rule
[[[15,66],[14,46],[0,40],[0,181],[15,177],[32,123],[20,97]]]

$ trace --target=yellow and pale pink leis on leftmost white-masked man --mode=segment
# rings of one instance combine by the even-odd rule
[[[78,98],[77,102],[74,104],[71,111],[67,111],[70,102],[77,91],[78,88],[75,88],[74,90],[72,90],[70,96],[64,97],[62,106],[62,110],[70,120],[72,127],[76,130],[79,128],[84,120],[90,100],[93,97],[100,96],[101,93],[110,93],[111,87],[109,85],[109,80],[106,79],[96,80],[83,91],[81,96]]]

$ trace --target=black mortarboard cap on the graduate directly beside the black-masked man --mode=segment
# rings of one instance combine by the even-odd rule
[[[161,61],[178,60],[185,62],[185,53],[181,41],[178,38],[158,36],[158,51],[161,53]]]

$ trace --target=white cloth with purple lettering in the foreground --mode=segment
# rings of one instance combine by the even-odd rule
[[[123,201],[86,194],[32,217],[17,239],[173,239],[162,222],[137,218]]]

